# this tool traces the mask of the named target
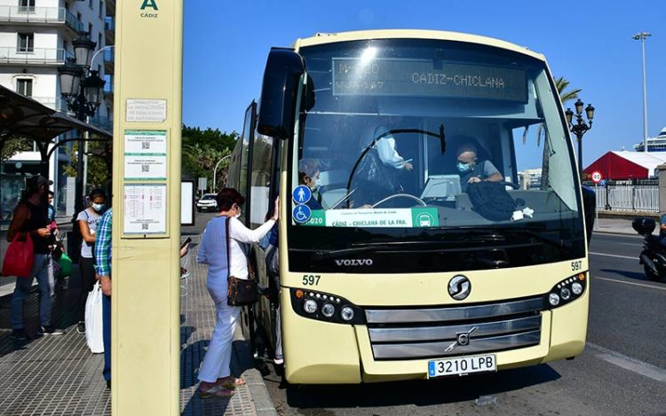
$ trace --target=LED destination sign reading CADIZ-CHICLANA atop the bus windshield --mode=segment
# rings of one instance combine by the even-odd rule
[[[333,95],[488,98],[527,102],[525,71],[425,59],[333,58]]]

